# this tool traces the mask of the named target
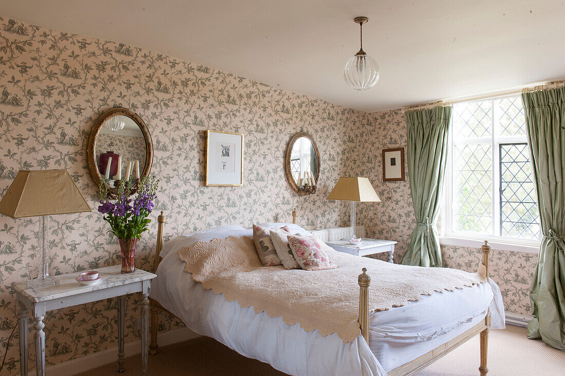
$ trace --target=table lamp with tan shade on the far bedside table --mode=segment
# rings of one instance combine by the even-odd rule
[[[349,238],[355,237],[355,203],[356,202],[381,202],[375,189],[368,178],[364,177],[341,177],[333,187],[326,200],[351,201],[351,225]]]

